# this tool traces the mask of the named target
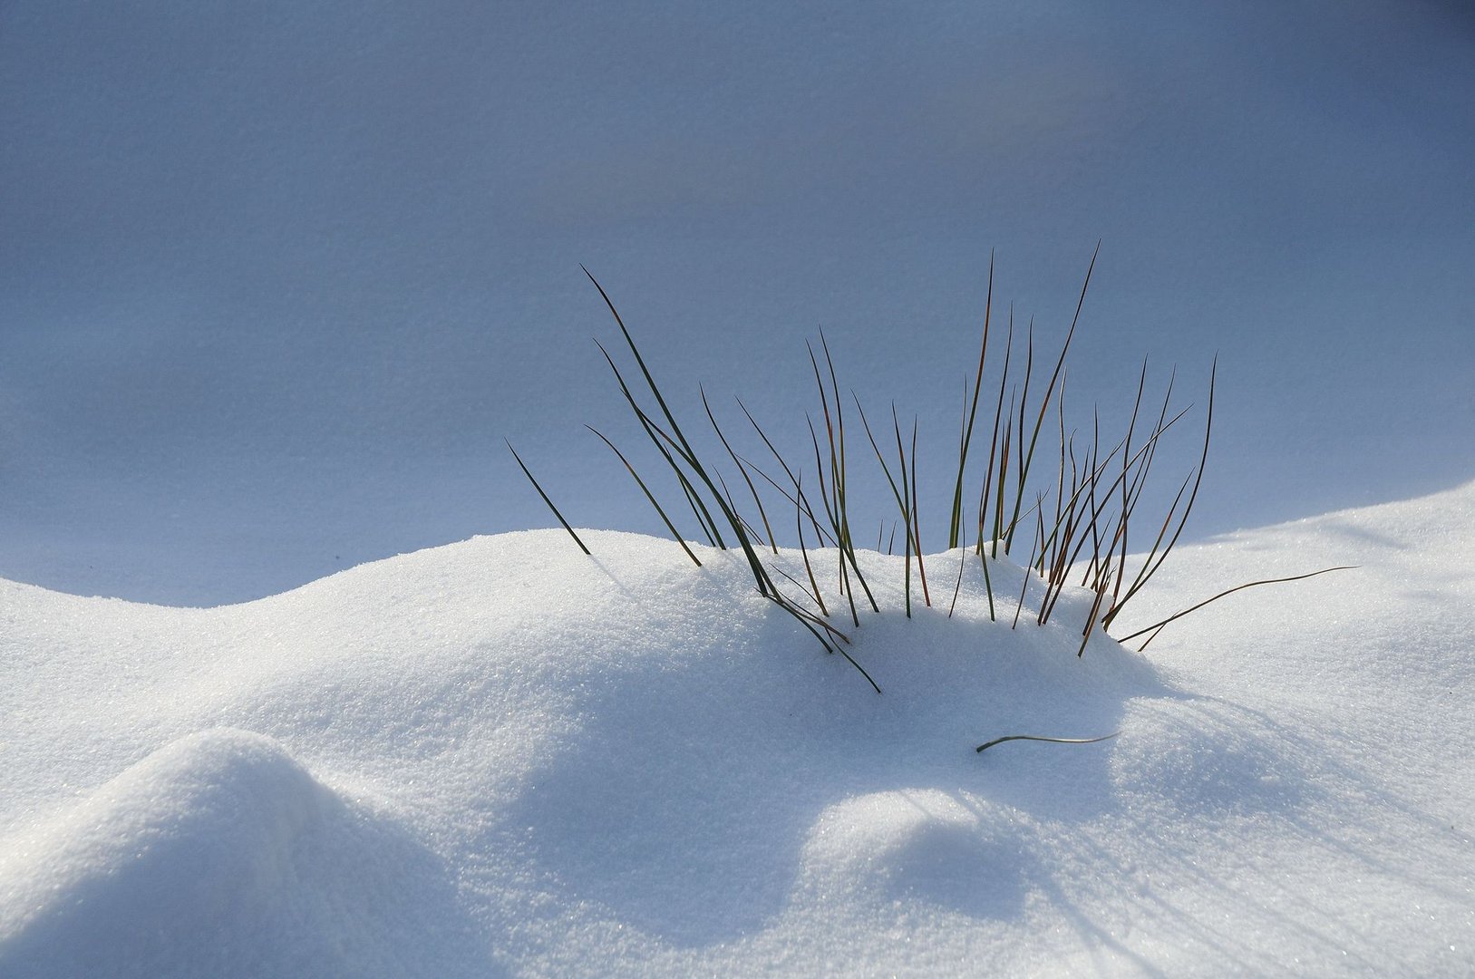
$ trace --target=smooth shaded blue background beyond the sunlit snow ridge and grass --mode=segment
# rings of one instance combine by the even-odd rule
[[[1190,534],[1475,476],[1475,19],[1024,6],[0,7],[0,575],[217,603],[547,525],[503,436],[655,531],[581,262],[791,439],[823,327],[944,484],[990,252],[1052,348],[1102,240],[1068,407],[1218,354]]]

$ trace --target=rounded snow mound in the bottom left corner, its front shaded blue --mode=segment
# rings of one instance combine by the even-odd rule
[[[385,837],[268,737],[181,737],[4,840],[0,975],[384,967],[419,941],[375,936],[391,924],[373,920],[386,892],[355,893]]]

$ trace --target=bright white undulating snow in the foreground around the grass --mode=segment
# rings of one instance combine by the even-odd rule
[[[586,537],[208,610],[0,585],[0,975],[1475,969],[1475,484],[1176,553],[1140,624],[1361,568],[1142,656],[1077,659],[1081,596],[1010,630],[1003,563],[948,618],[956,554],[907,621],[873,557],[882,696],[736,554]]]

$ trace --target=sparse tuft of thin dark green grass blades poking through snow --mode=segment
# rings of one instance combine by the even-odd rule
[[[1028,320],[1024,330],[1024,351],[1018,357],[1015,351],[1018,330],[1015,329],[1013,305],[1009,307],[1002,351],[997,349],[997,338],[991,338],[994,258],[990,255],[978,367],[972,372],[972,376],[965,376],[963,379],[963,410],[957,417],[957,467],[953,470],[950,487],[951,506],[945,525],[947,548],[948,551],[959,551],[959,568],[953,584],[953,597],[948,603],[948,616],[956,610],[968,562],[978,560],[988,602],[988,618],[990,621],[999,619],[991,565],[999,560],[1000,550],[1003,550],[1006,556],[1022,568],[1018,602],[1015,603],[1010,622],[1012,628],[1019,628],[1021,613],[1025,607],[1031,609],[1030,618],[1037,627],[1047,625],[1055,612],[1062,607],[1061,599],[1068,584],[1090,590],[1090,609],[1081,625],[1081,643],[1077,655],[1086,653],[1086,647],[1094,633],[1106,633],[1115,624],[1122,609],[1152,581],[1181,538],[1189,513],[1198,500],[1208,464],[1218,374],[1215,358],[1208,376],[1204,433],[1196,464],[1183,476],[1167,513],[1159,515],[1159,518],[1142,518],[1137,510],[1142,501],[1148,498],[1149,475],[1153,470],[1158,448],[1168,432],[1174,429],[1176,423],[1193,405],[1174,407],[1173,397],[1177,383],[1177,372],[1174,370],[1168,376],[1156,420],[1148,425],[1143,419],[1143,403],[1148,398],[1148,361],[1143,360],[1131,400],[1131,413],[1127,419],[1125,431],[1120,438],[1114,441],[1109,435],[1103,436],[1102,419],[1096,408],[1092,410],[1090,429],[1086,433],[1080,433],[1068,426],[1065,389],[1069,369],[1066,358],[1075,338],[1075,330],[1081,321],[1099,252],[1100,243],[1092,252],[1086,277],[1077,296],[1075,313],[1071,317],[1069,327],[1065,330],[1065,339],[1061,344],[1050,374],[1044,380],[1043,391],[1038,389],[1038,385],[1032,383],[1034,320]],[[879,693],[881,687],[876,681],[847,650],[851,644],[850,635],[830,621],[835,613],[844,609],[844,613],[850,618],[850,627],[860,628],[861,607],[869,606],[870,612],[879,613],[881,603],[876,600],[875,591],[861,571],[857,544],[851,531],[853,492],[845,438],[845,405],[839,394],[841,385],[829,338],[820,332],[819,348],[816,349],[810,344],[807,349],[814,391],[819,395],[817,411],[805,417],[808,445],[804,454],[811,457],[814,463],[814,472],[808,479],[808,489],[805,488],[802,467],[791,464],[789,459],[768,438],[768,433],[758,425],[758,420],[742,400],[738,400],[738,407],[742,410],[743,417],[767,453],[777,461],[779,469],[771,470],[770,467],[766,472],[751,457],[742,454],[739,447],[729,439],[727,432],[723,431],[707,392],[698,385],[702,410],[707,414],[712,433],[717,436],[726,460],[736,467],[738,476],[748,488],[746,498],[751,500],[755,512],[755,518],[749,520],[743,516],[738,500],[730,492],[727,476],[704,460],[696,445],[687,439],[609,293],[605,292],[605,288],[599,285],[587,268],[584,268],[584,274],[589,276],[589,280],[599,290],[609,314],[614,317],[624,339],[628,358],[634,363],[634,372],[630,372],[628,367],[622,370],[615,355],[603,344],[596,341],[596,345],[615,377],[625,405],[634,414],[640,429],[655,448],[656,459],[664,463],[665,470],[668,470],[668,475],[678,487],[701,537],[707,540],[708,546],[715,548],[727,548],[729,540],[736,541],[736,547],[742,550],[743,559],[752,574],[754,587],[758,594],[777,605],[795,622],[802,625],[825,652],[842,656]],[[990,344],[994,344],[994,349],[990,349]],[[1018,360],[1024,361],[1022,369],[1016,367]],[[996,380],[990,379],[994,364],[1000,364]],[[1022,376],[1019,376],[1021,373]],[[639,374],[637,383],[643,382],[639,391],[627,382],[627,376],[636,377],[636,374]],[[991,392],[988,398],[984,397],[985,388]],[[916,578],[922,605],[925,607],[932,606],[923,557],[926,550],[923,547],[920,519],[923,489],[920,487],[920,466],[917,461],[917,432],[920,423],[917,419],[913,419],[912,432],[907,436],[897,405],[895,403],[891,404],[892,431],[891,438],[885,441],[894,442],[895,454],[892,456],[891,450],[882,447],[882,439],[876,438],[866,410],[861,405],[860,395],[854,391],[850,394],[866,439],[870,444],[872,456],[879,466],[879,475],[884,476],[886,487],[891,489],[895,504],[895,519],[891,522],[889,538],[886,537],[886,518],[878,520],[876,553],[882,551],[884,543],[885,553],[894,553],[897,531],[900,529],[903,610],[910,618],[916,612],[913,609],[912,587],[913,557],[916,559]],[[990,401],[993,403],[993,419],[988,420],[985,414],[982,425],[979,425],[979,408],[982,405],[987,413]],[[1046,419],[1052,413],[1055,416],[1053,423],[1046,426]],[[1150,410],[1146,416],[1152,417]],[[671,519],[668,509],[659,503],[650,481],[640,475],[636,464],[609,438],[593,428],[590,431],[614,451],[646,500],[656,510],[667,531],[677,540],[687,557],[701,568],[701,559]],[[988,433],[988,453],[984,469],[978,473],[971,469],[971,461],[979,459],[981,451],[972,453],[972,445],[975,433],[981,435],[982,432]],[[1041,439],[1041,436],[1044,438]],[[885,436],[882,435],[882,438]],[[1043,445],[1050,438],[1058,439],[1055,451]],[[507,448],[512,450],[510,442]],[[1044,448],[1043,453],[1040,451],[1041,448]],[[512,450],[512,454],[559,523],[587,554],[589,548],[584,547],[584,543],[569,526],[568,520],[553,506],[553,501],[543,491],[543,487],[538,485],[537,479],[532,478],[522,459],[518,457],[515,450]],[[1053,472],[1038,473],[1035,463],[1052,457],[1055,460]],[[1041,463],[1041,466],[1047,467],[1049,463]],[[656,469],[659,470],[659,464]],[[730,470],[727,475],[732,475]],[[758,476],[758,481],[754,479],[754,475]],[[963,501],[965,494],[971,495],[969,481],[974,481],[972,485],[978,489],[978,510],[974,515],[974,528],[976,532],[971,546],[963,540],[965,518],[968,516]],[[763,492],[760,492],[760,482],[763,484]],[[736,487],[738,484],[732,485]],[[780,566],[780,538],[770,522],[768,509],[763,498],[764,492],[768,491],[777,491],[786,504],[794,507],[794,532],[804,568],[802,578],[796,576],[796,568],[791,574],[789,569]],[[1030,497],[1032,497],[1032,503],[1025,506]],[[758,531],[760,526],[761,532]],[[866,523],[866,526],[870,525]],[[1139,562],[1133,562],[1130,557],[1134,553],[1131,537],[1134,531],[1140,531],[1143,526],[1156,532],[1146,556]],[[1021,535],[1021,529],[1024,535]],[[1027,551],[1016,551],[1016,543],[1022,546],[1027,535],[1031,540],[1030,548]],[[832,596],[838,594],[842,599],[838,606],[825,600],[826,587],[822,584],[822,575],[816,571],[819,565],[811,560],[810,540],[813,540],[816,548],[822,548],[816,551],[816,556],[822,554],[823,548],[832,551]],[[771,565],[764,562],[760,548],[768,554],[773,562]],[[1221,591],[1131,635],[1125,635],[1122,641],[1146,635],[1148,640],[1143,643],[1143,649],[1146,649],[1148,643],[1168,624],[1229,594],[1263,584],[1299,581],[1341,569],[1326,568],[1289,578],[1251,581]],[[776,584],[776,576],[792,585],[796,591],[782,591]],[[1063,607],[1069,607],[1069,605],[1066,603]],[[1055,739],[1015,734],[981,745],[978,750],[1009,740],[1093,743],[1105,739]]]

